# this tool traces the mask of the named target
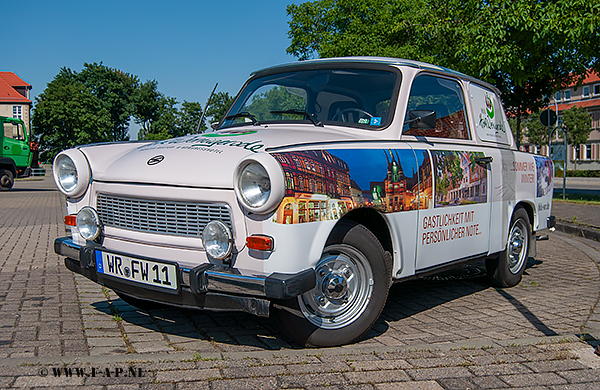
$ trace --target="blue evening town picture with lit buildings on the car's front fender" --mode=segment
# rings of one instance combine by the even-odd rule
[[[285,172],[285,197],[273,222],[337,220],[357,207],[384,213],[433,208],[426,150],[310,150],[273,153]],[[368,162],[368,163],[365,163]]]

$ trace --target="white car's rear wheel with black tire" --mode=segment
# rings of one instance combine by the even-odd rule
[[[506,249],[498,256],[486,259],[485,267],[496,287],[513,287],[521,282],[531,241],[531,223],[523,207],[517,207],[510,219]]]

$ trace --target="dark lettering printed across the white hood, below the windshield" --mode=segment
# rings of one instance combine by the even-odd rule
[[[155,149],[192,149],[199,151],[209,151],[213,153],[222,153],[222,149],[215,148],[215,146],[229,146],[235,148],[242,148],[249,150],[253,153],[258,153],[265,145],[262,140],[258,141],[237,141],[227,139],[211,139],[203,135],[193,135],[189,137],[173,138],[164,141],[158,141],[150,145],[145,145],[139,148],[139,150],[155,150]]]

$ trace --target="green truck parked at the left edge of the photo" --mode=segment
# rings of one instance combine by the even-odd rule
[[[15,177],[31,174],[30,135],[20,119],[0,116],[3,132],[0,137],[0,191],[12,188]]]

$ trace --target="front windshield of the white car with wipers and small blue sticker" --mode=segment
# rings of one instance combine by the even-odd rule
[[[305,122],[379,129],[391,122],[398,74],[376,69],[319,69],[251,80],[221,127]]]

